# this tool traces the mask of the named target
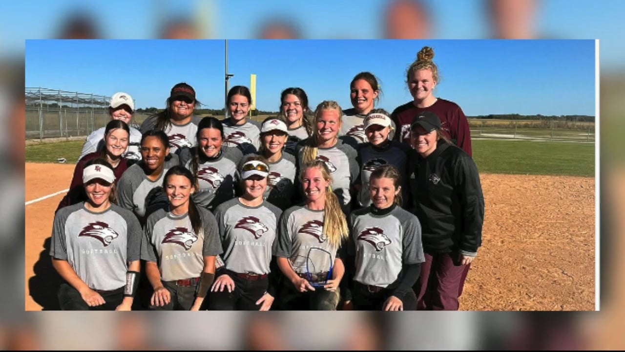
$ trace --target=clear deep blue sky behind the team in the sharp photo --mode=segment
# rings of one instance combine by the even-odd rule
[[[407,66],[422,46],[434,48],[441,80],[436,96],[467,115],[594,115],[592,40],[229,40],[230,86],[257,75],[256,105],[276,111],[284,88],[299,86],[311,108],[336,100],[349,108],[349,83],[361,71],[381,82],[377,107],[411,100]],[[26,86],[113,95],[138,107],[163,108],[171,86],[186,81],[209,108],[224,99],[224,40],[29,40]]]

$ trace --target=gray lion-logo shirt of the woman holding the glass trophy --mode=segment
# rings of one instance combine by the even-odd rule
[[[327,272],[334,266],[339,247],[323,235],[324,214],[294,205],[280,217],[276,257],[288,258],[297,274]]]

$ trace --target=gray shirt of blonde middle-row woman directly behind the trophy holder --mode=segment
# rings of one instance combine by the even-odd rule
[[[299,148],[297,152],[297,165],[302,169],[302,156],[304,148]],[[317,159],[323,160],[329,168],[332,176],[332,190],[339,198],[342,205],[347,205],[351,201],[349,193],[351,185],[358,177],[359,167],[356,162],[357,153],[351,145],[343,142],[339,138],[334,147],[317,148]]]

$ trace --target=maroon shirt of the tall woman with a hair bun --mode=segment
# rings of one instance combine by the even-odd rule
[[[423,111],[432,111],[439,116],[442,131],[451,139],[451,142],[472,157],[469,121],[460,106],[453,101],[441,98],[427,108],[417,108],[412,101],[397,106],[391,113],[391,120],[397,128],[393,139],[410,144],[410,125],[412,120]]]

